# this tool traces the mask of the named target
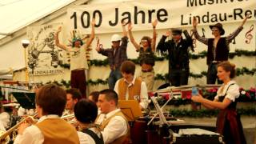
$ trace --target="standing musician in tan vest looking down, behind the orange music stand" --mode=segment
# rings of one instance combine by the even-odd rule
[[[148,94],[146,83],[134,76],[135,64],[131,61],[122,62],[122,77],[116,82],[114,91],[120,100],[138,99],[141,109],[146,109],[148,104]],[[136,98],[138,97],[138,98]]]

